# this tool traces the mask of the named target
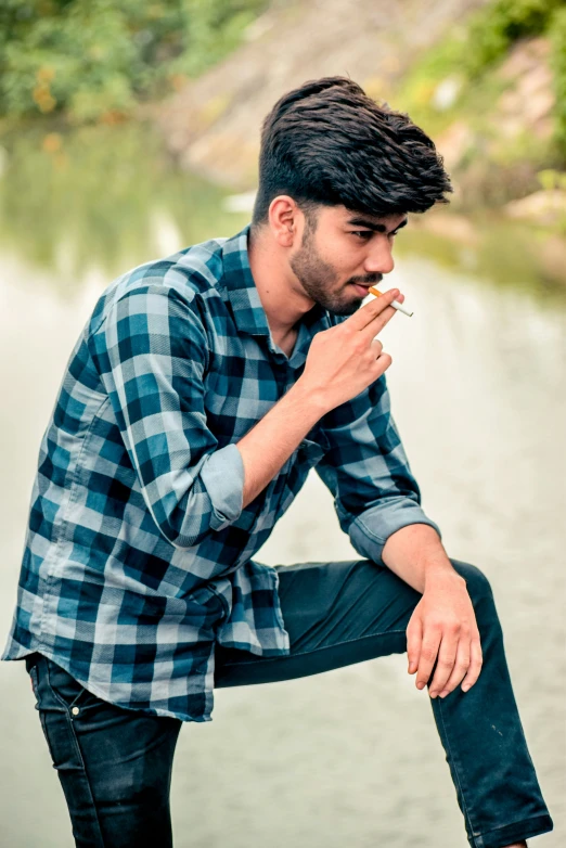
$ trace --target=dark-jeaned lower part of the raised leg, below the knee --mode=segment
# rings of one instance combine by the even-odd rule
[[[468,840],[501,848],[552,831],[517,710],[491,587],[476,567],[464,577],[481,638],[484,665],[468,692],[430,699]]]

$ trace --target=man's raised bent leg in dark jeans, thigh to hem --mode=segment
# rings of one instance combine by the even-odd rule
[[[484,666],[469,692],[458,686],[430,703],[468,841],[503,848],[553,824],[523,734],[491,587],[475,566],[451,562],[466,580]],[[290,655],[262,658],[218,646],[216,686],[288,680],[407,651],[421,594],[384,565],[304,563],[279,566],[278,574]]]

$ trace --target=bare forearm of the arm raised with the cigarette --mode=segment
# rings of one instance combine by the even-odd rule
[[[244,463],[243,507],[273,479],[325,411],[299,378],[236,442]]]

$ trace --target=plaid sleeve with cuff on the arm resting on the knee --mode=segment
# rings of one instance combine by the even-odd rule
[[[385,375],[327,413],[321,422],[329,441],[317,472],[334,497],[342,529],[361,555],[378,562],[389,536],[411,524],[438,525],[421,506],[390,412]]]

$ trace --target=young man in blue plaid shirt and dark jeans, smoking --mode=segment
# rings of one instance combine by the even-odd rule
[[[552,830],[491,588],[450,560],[389,412],[380,331],[432,140],[343,77],[265,120],[250,226],[115,280],[39,455],[4,659],[26,658],[77,846],[172,844],[182,721],[216,686],[408,652],[475,848]],[[256,562],[311,467],[361,560]],[[497,732],[497,729],[503,732]]]

